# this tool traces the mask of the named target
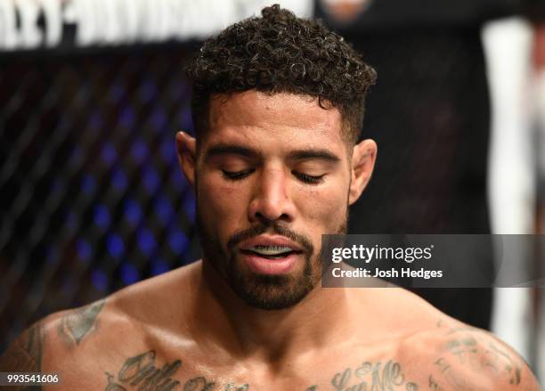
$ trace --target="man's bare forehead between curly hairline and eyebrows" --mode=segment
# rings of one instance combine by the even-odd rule
[[[323,109],[305,95],[257,91],[213,96],[205,143],[346,148],[338,109]]]

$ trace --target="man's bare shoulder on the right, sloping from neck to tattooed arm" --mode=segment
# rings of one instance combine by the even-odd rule
[[[490,332],[443,314],[405,289],[377,289],[370,301],[380,304],[375,306],[389,321],[382,331],[400,341],[396,357],[407,375],[425,389],[541,390],[524,359]]]

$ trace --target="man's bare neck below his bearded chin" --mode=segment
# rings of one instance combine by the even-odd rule
[[[198,292],[192,312],[199,346],[234,356],[284,362],[342,342],[354,326],[346,289],[315,287],[301,302],[282,310],[246,305],[207,261],[195,269]]]

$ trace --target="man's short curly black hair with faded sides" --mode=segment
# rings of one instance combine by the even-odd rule
[[[337,108],[346,139],[355,143],[375,70],[320,21],[297,18],[278,4],[261,13],[208,39],[188,67],[197,134],[207,128],[213,94],[256,90],[308,95],[323,109]]]

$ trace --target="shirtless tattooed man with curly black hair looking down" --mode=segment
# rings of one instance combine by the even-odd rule
[[[60,390],[536,390],[484,331],[403,289],[321,289],[322,233],[346,231],[377,154],[357,143],[375,74],[278,6],[189,69],[197,138],[176,135],[204,257],[20,336],[0,371]]]

